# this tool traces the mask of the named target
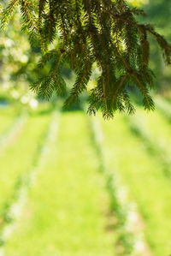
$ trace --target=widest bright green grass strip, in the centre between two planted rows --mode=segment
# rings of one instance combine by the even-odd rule
[[[105,230],[108,196],[83,113],[63,113],[58,140],[38,172],[5,255],[114,255]]]

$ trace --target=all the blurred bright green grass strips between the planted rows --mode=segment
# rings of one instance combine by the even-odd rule
[[[3,116],[14,120],[15,110],[5,111]],[[0,156],[2,220],[5,205],[14,199],[20,176],[34,168],[39,155],[41,158],[50,116],[49,107],[30,111],[21,132]],[[103,128],[105,164],[110,173],[121,177],[128,199],[138,206],[143,221],[140,229],[150,254],[168,255],[171,252],[171,181],[164,175],[161,158],[150,154],[143,137],[133,132],[133,125],[139,123],[148,132],[153,146],[162,143],[161,152],[168,152],[167,157],[170,122],[158,110],[147,115],[141,109],[132,117],[132,125],[127,116],[116,115],[114,120],[105,122],[101,117],[96,118]],[[36,180],[28,190],[20,217],[14,220],[15,232],[3,244],[4,255],[127,255],[118,254],[123,251],[115,248],[121,247],[115,243],[116,226],[107,228],[111,221],[109,194],[105,176],[99,172],[101,159],[91,138],[88,117],[82,111],[62,112],[57,126],[57,138],[52,140],[44,164],[36,170]],[[3,226],[0,217],[1,229]],[[134,251],[130,255],[142,254]]]

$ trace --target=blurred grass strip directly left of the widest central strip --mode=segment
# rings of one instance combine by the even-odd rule
[[[0,215],[3,205],[8,203],[12,196],[15,182],[32,166],[34,154],[48,122],[48,115],[30,116],[15,143],[3,151],[0,161]]]

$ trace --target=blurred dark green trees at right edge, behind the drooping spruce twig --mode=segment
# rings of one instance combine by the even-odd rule
[[[166,39],[171,40],[171,5],[169,0],[149,0],[144,5],[144,10],[148,14],[147,21],[154,24],[156,30],[162,33]],[[152,43],[152,42],[151,42]],[[156,88],[158,92],[164,94],[170,91],[171,72],[170,67],[166,67],[155,44],[151,44],[150,67],[156,73]]]

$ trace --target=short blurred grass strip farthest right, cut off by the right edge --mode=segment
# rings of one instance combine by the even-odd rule
[[[133,133],[144,141],[148,152],[161,164],[163,174],[171,177],[171,149],[168,146],[171,134],[168,121],[157,111],[145,113],[139,109],[128,122]]]

